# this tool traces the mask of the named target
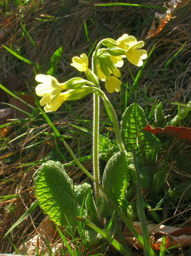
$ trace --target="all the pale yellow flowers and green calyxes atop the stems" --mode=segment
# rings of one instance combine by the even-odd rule
[[[100,49],[101,44],[107,48]],[[109,93],[119,92],[121,72],[118,68],[123,66],[123,58],[141,67],[142,60],[147,58],[147,52],[141,49],[143,46],[143,41],[137,42],[134,36],[127,34],[117,40],[103,39],[93,54],[95,58],[93,62],[96,63],[96,69],[93,70],[88,67],[88,56],[85,53],[73,57],[71,65],[80,72],[84,72],[88,80],[74,77],[65,83],[59,83],[55,77],[37,75],[36,81],[40,84],[36,86],[36,95],[42,97],[40,104],[45,106],[45,111],[56,111],[65,100],[77,100],[88,93],[97,93],[95,88],[100,88],[99,79],[105,82],[105,88]]]

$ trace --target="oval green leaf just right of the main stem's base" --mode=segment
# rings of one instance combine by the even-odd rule
[[[107,195],[117,200],[121,205],[126,193],[126,188],[131,180],[131,167],[134,163],[131,153],[117,152],[109,159],[103,172],[102,184]]]

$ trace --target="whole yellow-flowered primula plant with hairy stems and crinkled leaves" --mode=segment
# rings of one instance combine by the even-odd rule
[[[126,108],[119,128],[116,112],[100,88],[100,81],[105,82],[107,92],[119,92],[121,72],[118,68],[123,66],[125,59],[141,67],[142,60],[147,58],[147,52],[141,49],[143,46],[144,42],[137,42],[134,36],[127,34],[118,40],[106,38],[96,45],[91,68],[89,68],[86,54],[72,58],[71,65],[80,72],[84,72],[87,79],[73,77],[65,83],[59,83],[55,77],[49,75],[36,76],[36,81],[40,83],[36,86],[36,94],[42,97],[40,104],[44,106],[46,112],[56,111],[65,100],[82,99],[89,93],[93,93],[94,193],[88,183],[74,186],[62,164],[55,161],[43,163],[35,179],[36,198],[50,220],[57,225],[66,226],[70,223],[71,226],[75,226],[78,223],[75,216],[81,216],[98,227],[104,228],[103,219],[107,219],[107,216],[114,211],[109,200],[117,202],[130,220],[136,219],[134,215],[137,210],[132,210],[134,205],[125,199],[126,189],[130,184],[136,187],[137,183],[132,148],[135,149],[141,167],[142,186],[148,189],[155,175],[160,141],[153,134],[142,131],[147,120],[144,111],[136,103]],[[100,97],[112,118],[116,141],[98,136]],[[102,177],[99,172],[99,157],[107,161]],[[146,205],[146,207],[149,206]],[[153,218],[158,220],[158,215]],[[110,229],[112,234],[114,229]],[[90,243],[96,243],[100,239],[100,236],[89,227],[84,232],[86,241]]]

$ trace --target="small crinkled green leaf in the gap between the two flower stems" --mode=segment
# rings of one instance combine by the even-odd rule
[[[109,161],[117,151],[119,151],[119,148],[116,140],[110,140],[102,135],[99,136],[99,156],[103,161]]]

